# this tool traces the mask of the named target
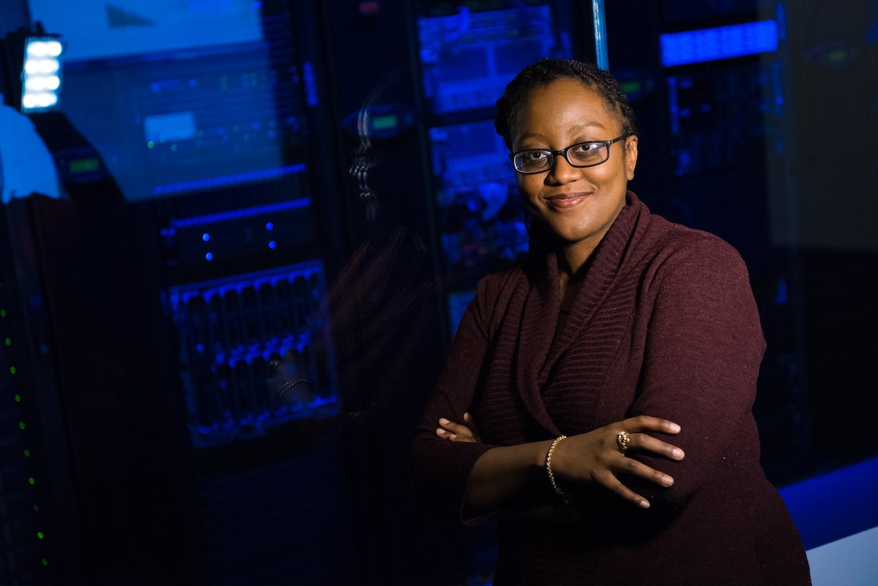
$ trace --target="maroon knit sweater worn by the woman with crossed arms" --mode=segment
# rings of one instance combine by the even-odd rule
[[[471,469],[491,447],[668,418],[682,427],[669,440],[683,461],[630,455],[672,475],[672,488],[623,478],[650,500],[641,510],[565,483],[567,507],[548,478],[535,482],[499,511],[495,585],[810,583],[759,464],[752,404],[765,341],[737,251],[629,193],[553,344],[558,290],[554,254],[479,282],[415,435],[419,501],[461,518]],[[439,418],[459,422],[464,411],[485,443],[435,437]],[[513,514],[545,505],[552,518]]]

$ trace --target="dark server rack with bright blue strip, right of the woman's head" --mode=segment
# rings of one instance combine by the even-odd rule
[[[784,2],[651,3],[637,34],[651,51],[624,42],[625,11],[608,6],[610,54],[637,88],[640,160],[632,188],[666,218],[716,233],[744,258],[768,343],[754,415],[766,473],[777,483],[810,474],[810,432],[801,259],[774,239],[775,162],[786,157],[789,53]],[[631,96],[631,95],[630,95]]]

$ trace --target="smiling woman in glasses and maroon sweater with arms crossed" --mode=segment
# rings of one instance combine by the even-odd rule
[[[497,107],[531,254],[458,325],[414,440],[419,500],[499,514],[497,586],[810,583],[759,465],[740,256],[628,191],[637,133],[610,75],[540,61]]]

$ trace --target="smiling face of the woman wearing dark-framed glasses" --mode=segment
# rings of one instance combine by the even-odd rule
[[[589,140],[623,134],[601,97],[578,80],[560,79],[532,89],[518,117],[513,152],[541,148],[558,151]],[[637,164],[637,137],[609,146],[609,159],[594,167],[572,167],[555,156],[541,173],[515,173],[524,205],[562,247],[591,254],[625,205],[628,182]]]

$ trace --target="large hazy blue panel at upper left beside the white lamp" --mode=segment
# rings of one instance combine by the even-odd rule
[[[69,3],[42,0],[40,4],[48,13],[49,4],[61,10]],[[85,4],[89,4],[88,11],[103,6]],[[285,181],[284,175],[305,175],[300,169],[306,166],[312,148],[306,109],[315,104],[316,97],[309,85],[313,72],[300,60],[288,16],[262,16],[259,3],[240,0],[164,2],[181,4],[180,11],[197,12],[177,22],[152,4],[129,0],[120,8],[124,4],[130,4],[126,15],[108,16],[122,18],[122,24],[97,30],[98,37],[106,33],[119,41],[134,32],[139,38],[149,33],[149,40],[156,37],[171,48],[180,39],[159,33],[166,30],[165,25],[183,23],[191,33],[185,45],[208,43],[168,52],[126,39],[125,46],[116,47],[124,50],[124,58],[112,43],[98,43],[96,47],[103,47],[106,54],[92,54],[92,47],[85,47],[85,53],[65,63],[64,111],[103,155],[106,171],[127,201],[179,200],[236,186]],[[112,14],[111,9],[104,9]],[[150,25],[131,25],[129,18],[156,11],[162,18],[151,20]],[[241,31],[254,22],[256,38],[241,37]],[[227,28],[235,23],[241,31]],[[205,25],[204,34],[198,33],[199,25]],[[70,42],[71,47],[74,44]],[[83,46],[79,47],[82,51]],[[96,101],[97,87],[102,98]],[[284,198],[299,195],[284,194]]]

